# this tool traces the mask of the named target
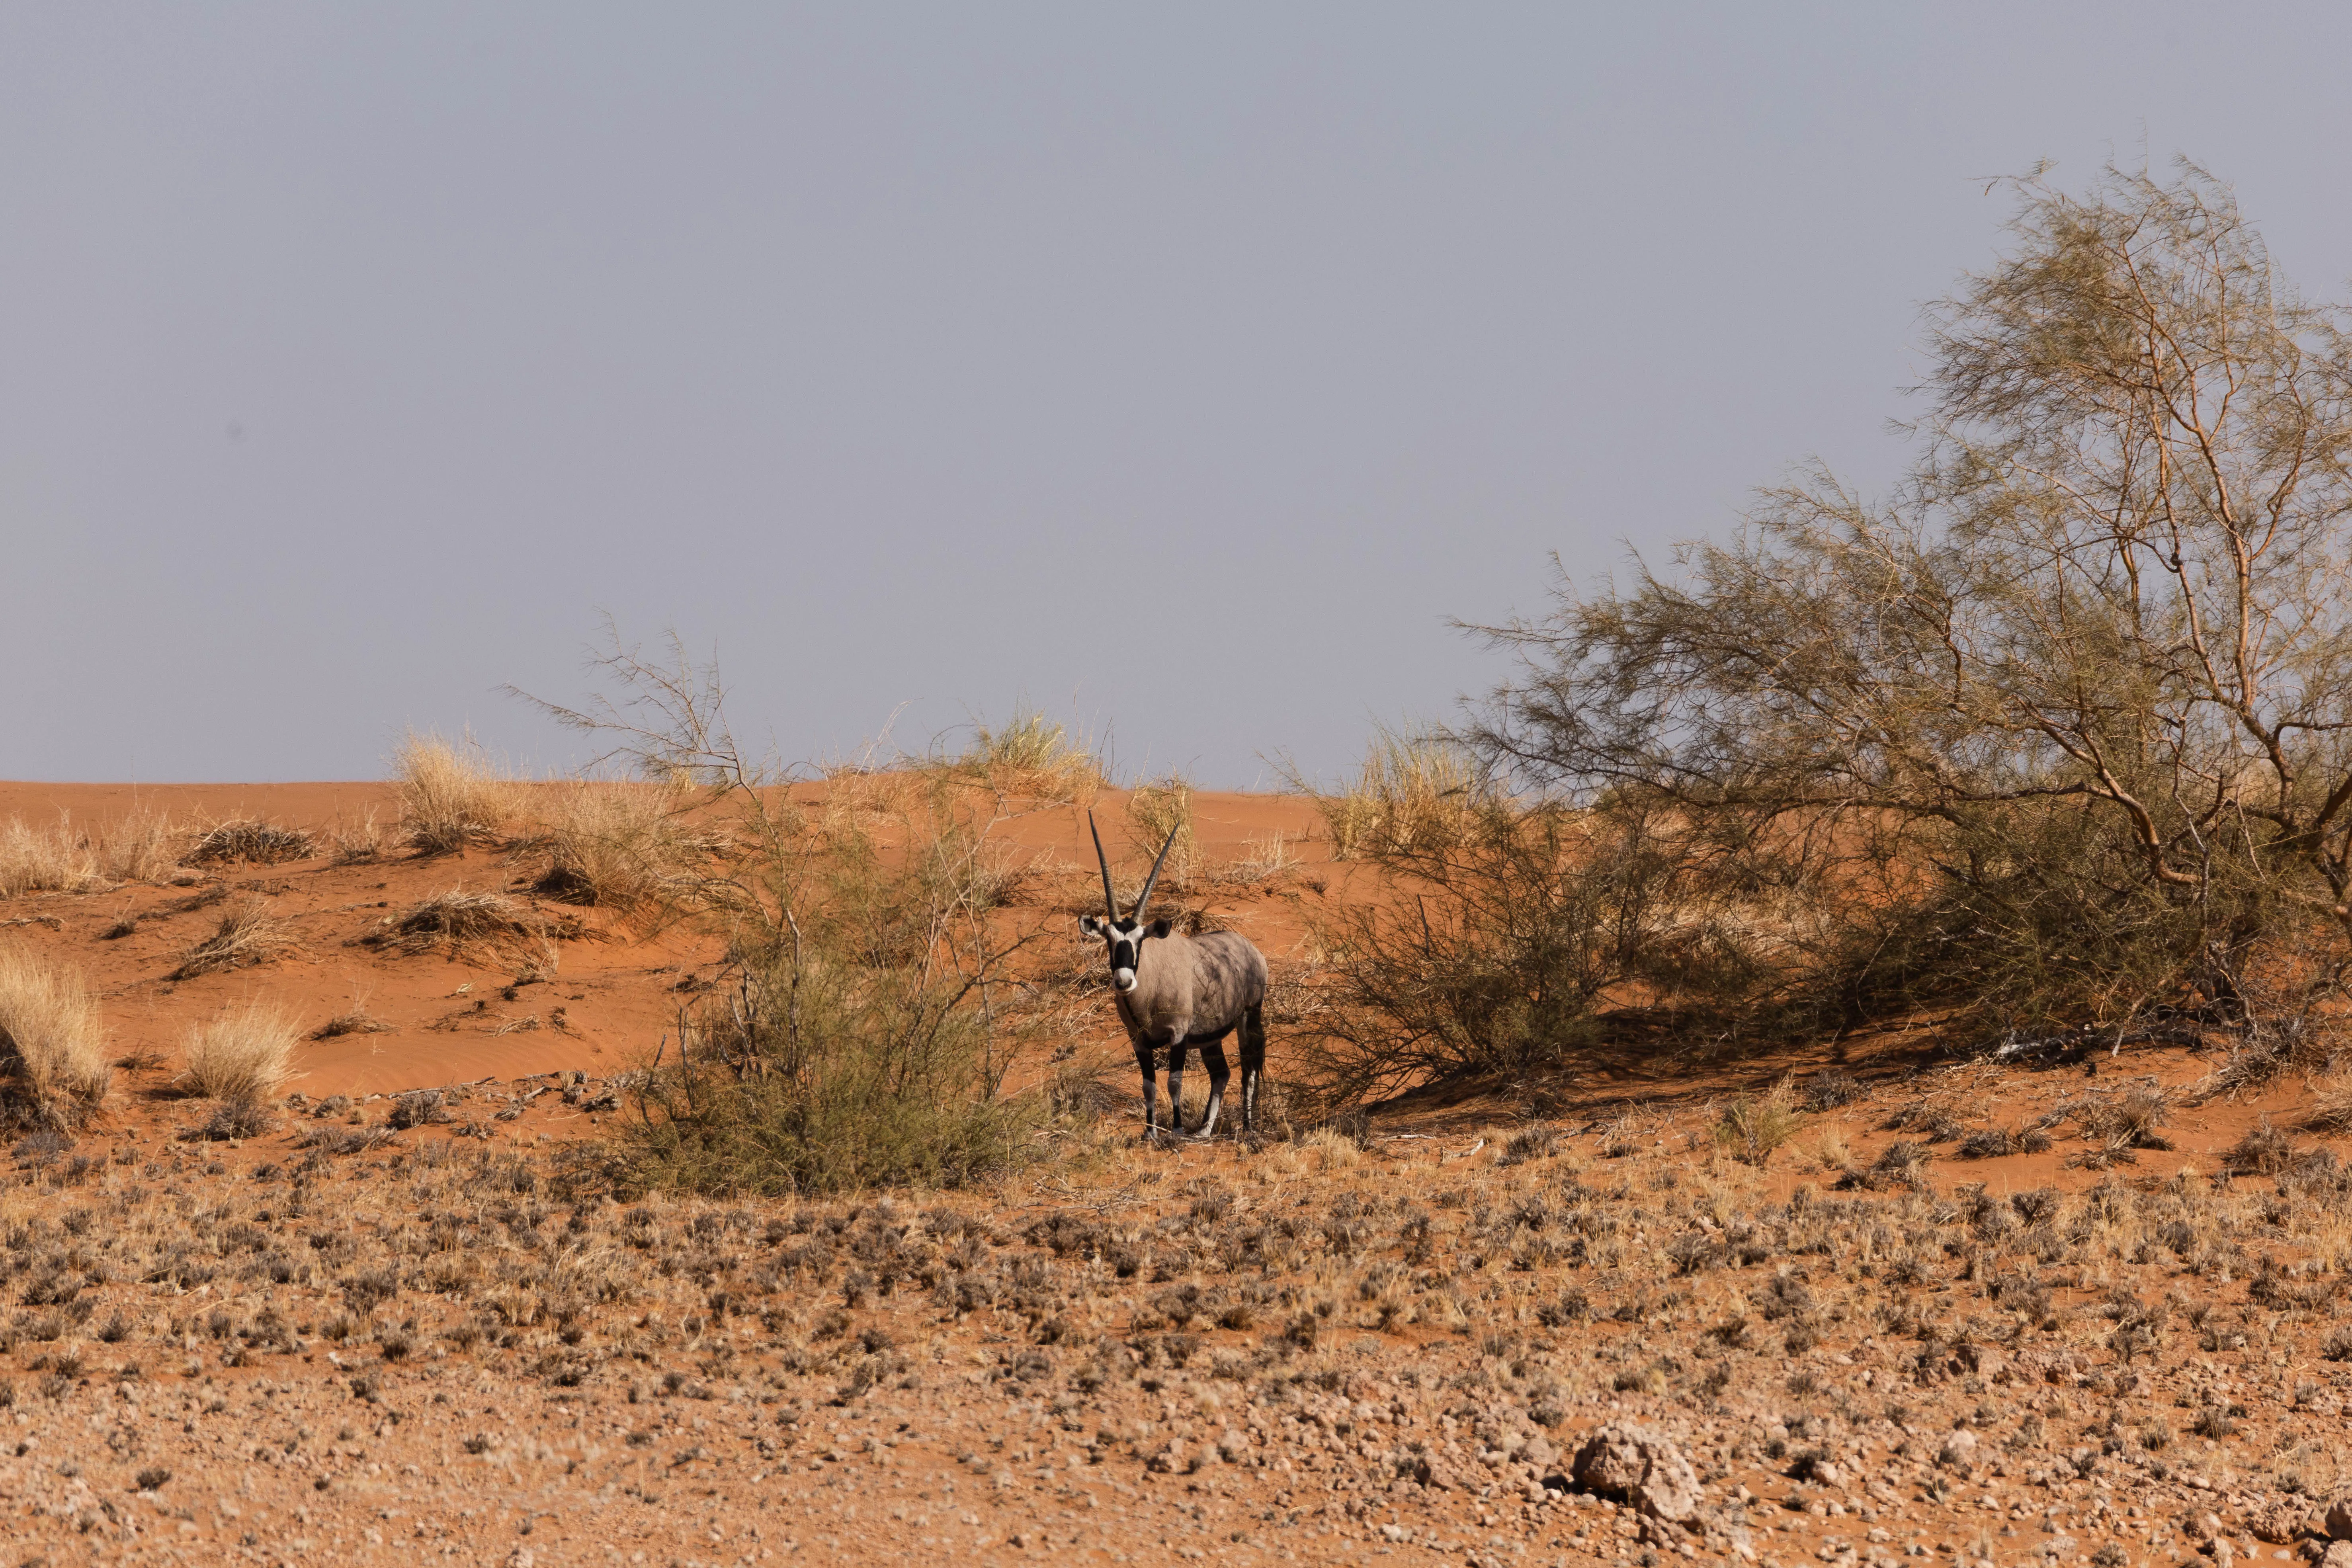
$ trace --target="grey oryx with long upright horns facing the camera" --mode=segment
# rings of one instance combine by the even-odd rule
[[[1242,1032],[1242,1131],[1258,1124],[1258,1079],[1265,1077],[1265,954],[1237,931],[1214,931],[1209,936],[1176,936],[1164,919],[1143,924],[1143,910],[1152,900],[1152,884],[1169,858],[1169,842],[1152,860],[1152,875],[1143,879],[1136,896],[1136,912],[1120,919],[1120,898],[1110,891],[1110,860],[1103,856],[1103,835],[1087,813],[1087,832],[1094,835],[1094,863],[1103,867],[1105,919],[1080,917],[1077,926],[1087,936],[1103,938],[1110,952],[1110,987],[1117,994],[1120,1023],[1136,1048],[1136,1067],[1143,1070],[1143,1138],[1160,1135],[1160,1074],[1152,1070],[1157,1046],[1169,1048],[1169,1124],[1176,1133],[1209,1138],[1216,1131],[1216,1112],[1225,1103],[1225,1037]],[[1183,1126],[1183,1058],[1200,1046],[1200,1060],[1209,1067],[1209,1110],[1200,1128],[1185,1133]]]

